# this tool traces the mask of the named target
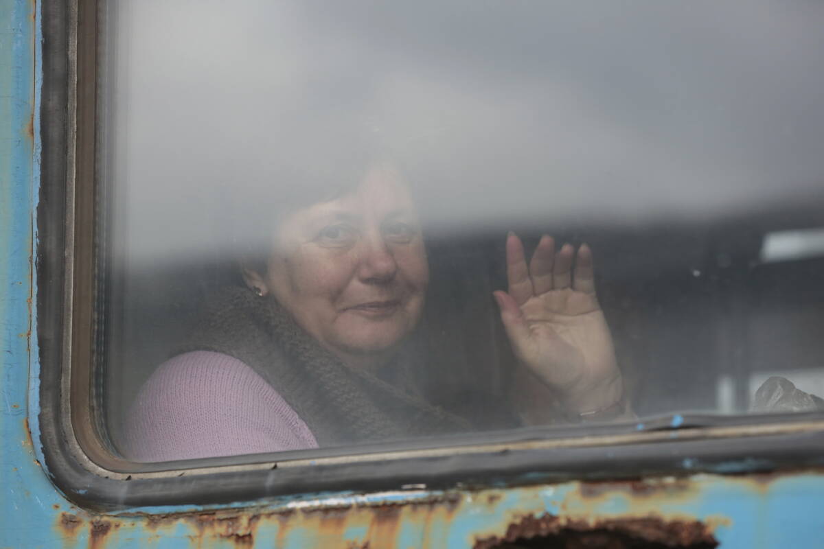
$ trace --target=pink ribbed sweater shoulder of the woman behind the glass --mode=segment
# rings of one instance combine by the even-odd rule
[[[317,448],[271,385],[211,351],[175,356],[152,374],[127,415],[125,444],[140,462]]]

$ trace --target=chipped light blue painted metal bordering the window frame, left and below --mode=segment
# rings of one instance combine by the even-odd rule
[[[700,520],[721,547],[817,547],[824,475],[725,476],[644,482],[541,483],[469,491],[299,495],[223,507],[95,514],[77,509],[41,466],[35,208],[40,175],[40,14],[0,0],[0,547],[471,547],[524,518],[599,523]],[[682,421],[680,416],[673,418]],[[685,458],[685,468],[697,465]]]

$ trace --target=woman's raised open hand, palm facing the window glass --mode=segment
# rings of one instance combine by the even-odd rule
[[[507,237],[508,291],[495,291],[517,359],[552,388],[568,412],[598,412],[619,402],[623,380],[595,295],[592,250],[555,251],[541,236],[529,266],[521,240]]]

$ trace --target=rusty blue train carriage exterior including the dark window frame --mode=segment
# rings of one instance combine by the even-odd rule
[[[353,454],[112,454],[90,368],[98,9],[0,0],[0,547],[824,545],[820,412],[669,413]]]

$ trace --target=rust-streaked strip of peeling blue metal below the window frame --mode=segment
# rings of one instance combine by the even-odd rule
[[[778,547],[815,542],[820,521],[791,517],[803,516],[804,502],[820,500],[822,487],[821,473],[799,472],[296,498],[189,513],[68,508],[56,515],[54,533],[63,547],[491,548],[529,539],[589,544],[579,547]]]

